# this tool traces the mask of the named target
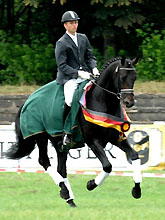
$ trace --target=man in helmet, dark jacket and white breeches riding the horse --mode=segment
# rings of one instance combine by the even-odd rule
[[[56,82],[64,85],[63,124],[71,109],[74,91],[79,83],[99,75],[96,57],[85,34],[77,33],[80,18],[74,11],[63,14],[61,23],[66,33],[56,42],[55,58],[58,67]],[[71,143],[71,136],[64,134],[63,145]]]

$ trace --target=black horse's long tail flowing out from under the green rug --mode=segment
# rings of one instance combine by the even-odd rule
[[[24,139],[21,132],[20,114],[22,107],[19,109],[15,119],[16,143],[13,144],[5,153],[5,156],[8,159],[20,159],[22,157],[28,156],[34,150],[35,147],[35,142],[33,138],[30,137]]]

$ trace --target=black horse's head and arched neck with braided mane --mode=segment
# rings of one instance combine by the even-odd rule
[[[139,58],[130,60],[123,56],[108,61],[96,83],[93,82],[97,99],[104,96],[104,99],[106,97],[109,100],[111,95],[111,97],[116,97],[118,101],[121,98],[127,108],[132,107],[134,105],[133,86],[136,80],[135,65],[138,60]]]

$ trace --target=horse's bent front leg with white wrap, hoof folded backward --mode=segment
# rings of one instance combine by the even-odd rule
[[[96,155],[96,157],[100,160],[103,166],[103,171],[98,176],[96,176],[95,179],[89,180],[87,183],[87,189],[93,190],[97,186],[100,186],[104,182],[104,180],[109,176],[110,172],[112,171],[112,165],[110,164],[103,149],[103,146],[99,140],[95,140],[93,144],[90,145],[90,148]]]

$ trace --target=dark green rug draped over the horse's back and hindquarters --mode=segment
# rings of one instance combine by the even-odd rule
[[[52,81],[32,93],[23,105],[20,115],[20,126],[24,139],[32,135],[47,132],[56,137],[63,132],[72,135],[71,147],[83,147],[83,137],[78,128],[77,113],[80,108],[79,100],[87,81],[76,89],[71,112],[63,127],[64,88]]]

